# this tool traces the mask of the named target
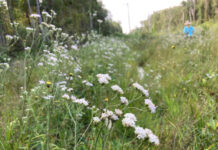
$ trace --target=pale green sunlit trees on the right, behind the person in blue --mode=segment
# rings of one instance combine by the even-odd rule
[[[154,12],[143,22],[144,32],[172,31],[183,26],[186,20],[203,23],[208,20],[217,20],[217,0],[188,0],[181,6]]]

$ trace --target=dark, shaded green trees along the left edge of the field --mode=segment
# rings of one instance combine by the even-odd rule
[[[5,2],[8,8],[0,10],[2,37],[13,32],[9,23],[18,22],[30,26],[30,15],[41,14],[43,10],[48,12],[54,10],[57,13],[54,24],[70,34],[81,34],[89,30],[96,30],[103,35],[122,33],[119,23],[111,20],[108,11],[97,0],[5,0]]]

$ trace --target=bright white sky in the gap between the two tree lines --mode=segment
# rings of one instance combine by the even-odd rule
[[[124,33],[129,33],[130,29],[141,26],[141,21],[151,15],[154,11],[180,5],[183,0],[101,0],[104,7],[109,10],[114,21],[121,24]],[[127,5],[128,4],[128,5]]]

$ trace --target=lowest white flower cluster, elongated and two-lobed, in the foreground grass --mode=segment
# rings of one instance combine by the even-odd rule
[[[137,138],[139,140],[144,140],[145,138],[149,138],[149,141],[151,143],[154,143],[155,145],[159,145],[160,141],[159,138],[153,134],[153,132],[150,129],[143,129],[142,127],[135,127],[135,134],[137,135]]]

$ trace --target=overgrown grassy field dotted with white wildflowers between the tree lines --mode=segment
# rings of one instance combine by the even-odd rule
[[[217,25],[80,46],[45,22],[26,30],[23,56],[1,63],[0,149],[217,149]]]

